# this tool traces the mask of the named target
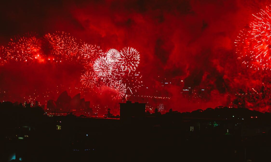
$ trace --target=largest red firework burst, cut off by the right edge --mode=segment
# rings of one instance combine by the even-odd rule
[[[240,31],[235,40],[239,59],[249,68],[271,70],[271,12],[270,6],[257,13],[248,29]]]

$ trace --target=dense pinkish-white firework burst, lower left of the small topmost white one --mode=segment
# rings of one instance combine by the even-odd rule
[[[114,63],[109,61],[106,57],[100,57],[95,60],[93,70],[101,79],[110,79],[114,73]]]

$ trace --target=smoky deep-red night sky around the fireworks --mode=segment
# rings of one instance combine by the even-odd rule
[[[153,92],[153,96],[169,94],[168,108],[183,112],[244,102],[247,108],[269,111],[268,99],[251,103],[236,96],[252,88],[269,93],[262,85],[270,79],[266,72],[247,69],[237,59],[234,45],[239,31],[253,20],[252,14],[266,5],[269,3],[259,0],[8,1],[0,6],[0,42],[7,46],[10,38],[27,32],[42,37],[65,31],[104,51],[133,47],[140,53],[138,70],[145,86],[160,89],[163,78],[180,78],[184,87],[208,89],[207,100],[193,102],[180,94],[181,86],[167,87],[163,94]],[[22,102],[37,90],[53,91],[49,98],[56,100],[61,93],[56,91],[80,85],[80,66],[37,64],[1,66],[0,90],[7,91],[9,97],[1,93],[0,99]],[[59,84],[63,88],[56,90]],[[110,97],[104,91],[106,88],[99,90],[99,96],[82,97],[98,104]]]

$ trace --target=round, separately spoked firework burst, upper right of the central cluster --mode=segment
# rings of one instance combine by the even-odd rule
[[[123,70],[134,71],[139,64],[140,55],[134,48],[123,48],[120,51],[120,64]]]

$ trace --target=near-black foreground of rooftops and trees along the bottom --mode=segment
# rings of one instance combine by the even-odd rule
[[[118,120],[47,117],[33,110],[2,114],[0,161],[254,162],[271,153],[264,114],[226,120],[171,112]]]

